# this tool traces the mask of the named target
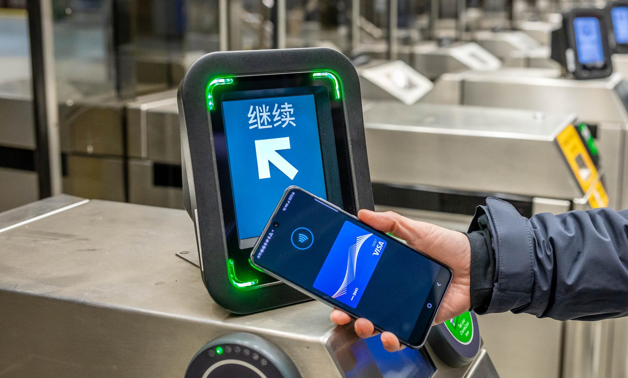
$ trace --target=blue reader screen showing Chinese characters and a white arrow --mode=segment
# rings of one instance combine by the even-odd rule
[[[288,186],[327,199],[313,94],[222,102],[239,239],[258,237]]]

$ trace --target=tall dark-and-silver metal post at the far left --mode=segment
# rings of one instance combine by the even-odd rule
[[[60,194],[62,190],[52,2],[28,0],[26,8],[33,73],[39,193],[40,198],[46,198]]]

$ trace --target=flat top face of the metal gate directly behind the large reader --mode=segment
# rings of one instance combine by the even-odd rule
[[[393,101],[372,102],[364,109],[367,128],[542,141],[552,141],[576,119],[573,114],[461,105],[408,106]]]

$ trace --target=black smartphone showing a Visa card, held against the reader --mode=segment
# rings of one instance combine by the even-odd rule
[[[449,267],[297,186],[251,252],[254,266],[413,348],[425,343]]]

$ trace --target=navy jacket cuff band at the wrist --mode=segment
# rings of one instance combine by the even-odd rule
[[[533,273],[532,237],[527,219],[510,204],[487,198],[486,207],[478,207],[469,232],[480,229],[478,219],[487,215],[495,254],[495,286],[490,305],[482,313],[500,313],[528,305],[531,300]]]

